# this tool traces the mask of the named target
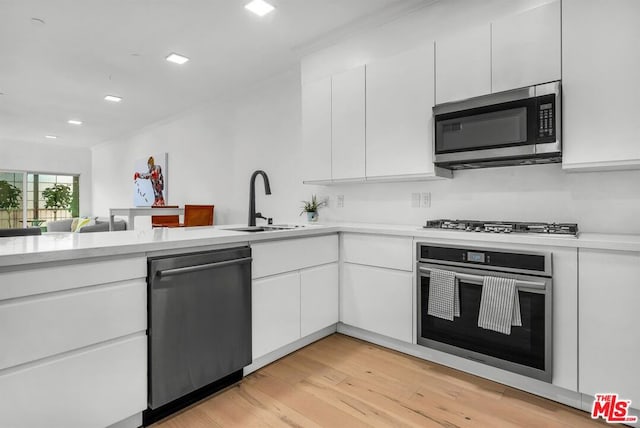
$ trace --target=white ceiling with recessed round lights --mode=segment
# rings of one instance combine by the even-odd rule
[[[0,147],[112,140],[287,70],[330,35],[431,3],[271,0],[260,18],[248,1],[0,0]],[[191,60],[169,63],[171,52]]]

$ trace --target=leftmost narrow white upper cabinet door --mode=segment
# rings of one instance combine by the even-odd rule
[[[302,87],[305,181],[331,179],[331,78]]]

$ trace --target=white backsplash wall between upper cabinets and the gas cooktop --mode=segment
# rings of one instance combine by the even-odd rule
[[[327,187],[328,221],[423,225],[427,219],[578,223],[581,231],[640,233],[640,171],[567,173],[560,164],[456,171],[452,180]],[[430,208],[411,194],[431,193]],[[336,208],[338,195],[344,207]]]

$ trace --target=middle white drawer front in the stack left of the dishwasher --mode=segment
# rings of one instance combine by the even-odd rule
[[[136,280],[0,303],[0,369],[143,331],[146,296]]]

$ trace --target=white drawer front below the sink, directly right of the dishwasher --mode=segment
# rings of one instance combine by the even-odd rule
[[[338,235],[258,242],[251,251],[252,277],[261,278],[338,261]]]

